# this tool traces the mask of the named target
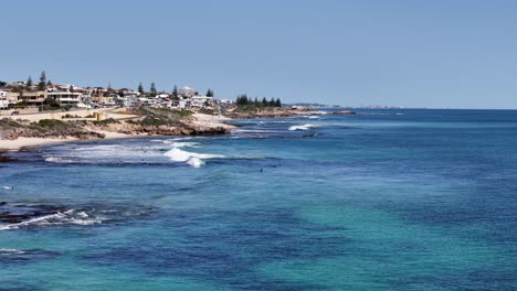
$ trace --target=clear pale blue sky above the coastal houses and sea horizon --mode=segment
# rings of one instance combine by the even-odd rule
[[[0,79],[517,108],[517,1],[2,1]]]

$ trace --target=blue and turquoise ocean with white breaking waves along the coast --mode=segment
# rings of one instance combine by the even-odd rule
[[[517,111],[235,122],[14,154],[0,290],[517,289]]]

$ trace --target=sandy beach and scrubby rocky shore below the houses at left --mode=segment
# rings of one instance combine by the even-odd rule
[[[128,116],[130,118],[109,118],[99,121],[85,118],[80,120],[40,119],[38,121],[3,118],[0,120],[0,149],[20,150],[23,147],[71,140],[135,136],[228,134],[232,128],[222,123],[217,117],[200,115],[203,118],[203,121],[200,121],[190,111],[156,109],[145,112],[131,111]]]

